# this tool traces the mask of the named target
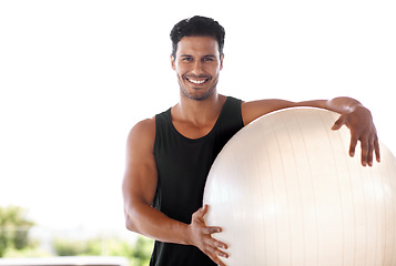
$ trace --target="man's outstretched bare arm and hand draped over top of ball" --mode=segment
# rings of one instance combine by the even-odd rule
[[[242,117],[246,125],[264,114],[297,106],[321,108],[339,113],[341,116],[334,123],[333,130],[338,130],[343,125],[346,125],[351,130],[349,155],[354,156],[356,144],[361,141],[362,165],[373,165],[373,153],[375,153],[377,162],[380,161],[378,137],[372,114],[362,105],[362,103],[352,98],[335,98],[333,100],[304,102],[291,102],[275,99],[244,102],[242,104]]]

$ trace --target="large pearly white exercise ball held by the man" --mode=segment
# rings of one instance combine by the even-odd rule
[[[236,133],[215,160],[203,204],[230,266],[396,265],[396,160],[349,157],[338,114],[288,109]]]

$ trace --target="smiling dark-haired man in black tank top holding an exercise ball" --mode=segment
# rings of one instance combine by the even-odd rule
[[[220,257],[227,257],[227,246],[211,236],[221,228],[204,222],[206,175],[232,135],[264,114],[293,106],[338,112],[333,130],[344,124],[351,129],[351,156],[361,141],[362,164],[373,165],[374,153],[379,162],[370,112],[358,101],[227,98],[216,91],[224,29],[212,19],[194,17],[175,24],[171,39],[180,102],[131,130],[123,181],[126,228],[156,239],[150,265],[224,265]]]

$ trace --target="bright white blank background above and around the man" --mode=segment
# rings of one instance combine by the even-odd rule
[[[221,93],[353,96],[396,152],[394,1],[0,1],[0,205],[123,231],[125,139],[177,102],[169,32],[194,14],[225,27]]]

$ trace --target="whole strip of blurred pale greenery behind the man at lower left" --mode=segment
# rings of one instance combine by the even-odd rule
[[[29,237],[34,223],[27,213],[19,206],[0,206],[0,257],[121,256],[129,259],[130,266],[150,263],[154,241],[144,236],[138,236],[135,242],[116,236],[54,237],[50,243],[52,250],[44,250],[39,241]]]

